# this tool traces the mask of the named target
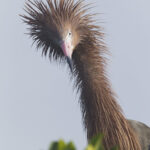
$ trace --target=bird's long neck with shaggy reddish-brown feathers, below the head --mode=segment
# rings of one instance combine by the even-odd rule
[[[105,76],[103,58],[98,53],[81,55],[78,52],[74,57],[88,139],[103,133],[106,150],[116,145],[120,150],[140,150],[138,139],[124,118]]]

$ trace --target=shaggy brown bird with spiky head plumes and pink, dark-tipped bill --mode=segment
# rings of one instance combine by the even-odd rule
[[[50,60],[66,62],[80,94],[87,140],[103,133],[105,150],[148,150],[150,128],[125,118],[106,73],[108,48],[103,28],[85,0],[28,0],[28,34]]]

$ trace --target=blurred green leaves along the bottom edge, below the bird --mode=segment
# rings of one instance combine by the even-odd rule
[[[89,142],[85,150],[105,150],[102,144],[102,140],[103,140],[103,135],[98,135],[94,137]],[[59,140],[59,141],[53,142],[50,145],[49,150],[76,150],[76,147],[73,144],[73,142],[65,143],[63,140]],[[110,150],[118,150],[118,148],[114,147]]]

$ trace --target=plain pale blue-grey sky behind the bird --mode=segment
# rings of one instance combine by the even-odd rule
[[[95,0],[103,13],[108,74],[127,118],[150,126],[150,1]],[[92,2],[92,0],[86,0]],[[31,47],[18,16],[24,0],[0,4],[0,149],[46,150],[50,141],[86,143],[67,66]]]

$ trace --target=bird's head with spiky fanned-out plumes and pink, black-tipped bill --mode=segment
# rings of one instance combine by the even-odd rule
[[[98,34],[91,25],[91,16],[87,14],[88,5],[84,0],[28,0],[25,5],[27,14],[21,15],[29,25],[29,35],[42,47],[43,54],[54,59],[65,58],[73,69],[72,55],[85,40]],[[94,35],[93,35],[94,34]],[[87,43],[90,40],[87,41]]]

